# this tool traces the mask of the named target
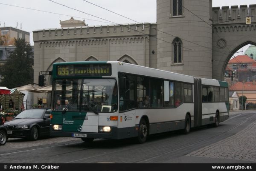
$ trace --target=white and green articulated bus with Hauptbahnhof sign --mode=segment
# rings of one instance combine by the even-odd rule
[[[229,117],[227,82],[118,61],[53,64],[51,135],[137,137],[211,124]],[[56,103],[57,102],[57,103]]]

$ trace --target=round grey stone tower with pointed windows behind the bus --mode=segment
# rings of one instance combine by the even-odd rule
[[[211,0],[157,0],[157,69],[212,79],[211,14]]]

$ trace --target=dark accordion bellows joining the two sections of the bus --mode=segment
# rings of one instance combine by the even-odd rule
[[[194,78],[194,127],[202,125],[202,80]]]

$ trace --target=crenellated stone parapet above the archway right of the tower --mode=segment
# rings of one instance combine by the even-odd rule
[[[239,6],[222,6],[212,8],[213,24],[246,23],[246,17],[251,17],[251,23],[256,23],[256,4]]]

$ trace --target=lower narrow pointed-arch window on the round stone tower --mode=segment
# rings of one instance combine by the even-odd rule
[[[173,63],[181,63],[182,62],[182,42],[176,37],[172,43],[173,46]]]

